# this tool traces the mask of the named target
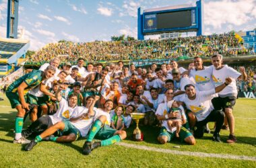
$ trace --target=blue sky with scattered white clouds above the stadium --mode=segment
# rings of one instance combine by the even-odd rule
[[[126,34],[137,38],[137,7],[149,9],[195,4],[185,0],[20,0],[19,28],[30,50],[65,39],[73,42],[110,40]],[[205,1],[205,34],[256,28],[256,0]],[[7,0],[0,0],[0,36],[6,36]]]

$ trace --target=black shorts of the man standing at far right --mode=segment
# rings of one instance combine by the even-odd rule
[[[234,105],[236,104],[236,97],[215,97],[214,99],[212,99],[212,104],[215,110],[224,110],[225,108],[233,109]]]

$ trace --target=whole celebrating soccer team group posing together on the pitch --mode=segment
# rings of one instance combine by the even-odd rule
[[[220,130],[230,130],[228,143],[236,142],[232,109],[236,102],[236,80],[246,80],[245,67],[239,72],[224,65],[214,54],[212,66],[195,57],[188,69],[170,60],[149,69],[123,62],[103,67],[79,58],[77,65],[53,58],[39,70],[26,74],[7,87],[6,95],[18,114],[13,142],[26,144],[30,151],[40,141],[73,142],[86,137],[82,153],[126,138],[131,113],[144,113],[144,126],[159,126],[160,144],[178,138],[195,144],[215,122],[212,140],[221,142]],[[23,129],[29,117],[32,124]],[[226,124],[224,120],[226,118]],[[98,140],[94,140],[94,138]],[[32,140],[28,140],[32,139]]]

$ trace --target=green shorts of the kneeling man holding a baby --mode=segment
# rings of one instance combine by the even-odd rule
[[[160,130],[160,134],[158,136],[167,136],[168,142],[170,142],[170,140],[172,140],[175,137],[175,132],[176,131],[168,132],[166,130],[166,128],[164,126],[162,126],[162,128]],[[183,142],[185,140],[185,138],[187,138],[188,136],[193,136],[193,134],[191,134],[191,132],[189,132],[189,130],[187,130],[185,127],[181,127],[179,136],[180,136],[181,142]]]

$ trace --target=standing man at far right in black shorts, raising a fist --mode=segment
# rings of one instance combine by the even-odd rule
[[[221,54],[214,54],[212,56],[212,65],[214,65],[212,79],[214,85],[217,87],[225,83],[227,77],[232,78],[232,83],[218,93],[218,104],[221,106],[220,108],[222,108],[228,119],[230,135],[227,142],[234,143],[236,142],[236,136],[234,136],[234,116],[232,110],[236,103],[237,96],[236,80],[242,79],[246,81],[247,74],[245,73],[245,67],[239,67],[241,73],[238,73],[236,70],[228,67],[228,65],[222,65],[222,58],[223,56]]]

